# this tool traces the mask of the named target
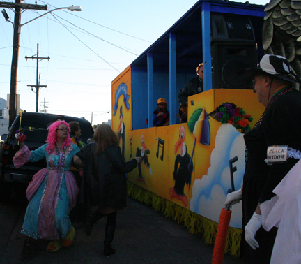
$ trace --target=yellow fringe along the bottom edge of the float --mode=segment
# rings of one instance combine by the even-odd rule
[[[206,244],[213,244],[217,233],[217,223],[199,214],[191,212],[180,205],[171,203],[155,193],[141,188],[132,182],[128,182],[128,196],[141,203],[150,205],[155,211],[162,212],[165,217],[171,217],[178,223],[183,223],[190,233],[203,235]],[[240,238],[242,230],[240,228],[229,227],[226,238],[225,253],[231,256],[239,256]]]

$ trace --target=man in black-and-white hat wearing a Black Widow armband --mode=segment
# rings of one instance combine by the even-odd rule
[[[241,74],[245,74],[246,80],[253,80],[258,101],[266,109],[252,131],[244,136],[247,163],[243,186],[228,194],[225,205],[242,200],[240,256],[247,263],[275,263],[270,262],[270,258],[278,228],[263,229],[265,218],[261,215],[264,212],[261,203],[269,203],[275,196],[275,187],[300,159],[301,93],[293,88],[293,82],[301,83],[301,79],[291,71],[288,60],[277,55],[263,56],[257,68],[246,68]],[[288,147],[284,162],[267,159],[267,153],[273,152],[273,147]],[[298,212],[295,214],[298,217]],[[291,219],[290,228],[295,228],[295,237],[286,237],[291,248],[298,241],[299,229],[299,224],[293,226],[293,223],[294,219]],[[275,254],[278,257],[279,251]]]

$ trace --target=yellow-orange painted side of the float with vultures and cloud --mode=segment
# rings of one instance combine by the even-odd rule
[[[125,160],[142,157],[141,164],[128,174],[128,180],[217,222],[227,192],[242,185],[245,142],[241,129],[236,129],[231,122],[221,124],[210,112],[231,101],[244,114],[248,113],[247,117],[259,119],[263,107],[256,94],[249,90],[236,90],[235,94],[231,89],[206,91],[191,96],[187,123],[132,130],[131,105],[125,105],[131,101],[129,83],[130,69],[113,84],[117,87],[116,94],[118,87],[127,87],[126,93],[112,94],[118,100],[112,102],[118,105],[112,129],[121,138]],[[254,126],[254,122],[249,125]],[[241,204],[233,206],[239,209],[233,210],[230,226],[241,228]]]

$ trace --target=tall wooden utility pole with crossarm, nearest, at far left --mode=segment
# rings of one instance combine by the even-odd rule
[[[15,3],[0,2],[0,7],[15,8],[14,36],[13,36],[13,59],[10,72],[10,101],[9,101],[9,126],[17,117],[16,98],[17,98],[17,66],[19,59],[20,34],[19,27],[21,21],[21,9],[47,10],[47,6],[21,3],[21,0],[15,0]]]

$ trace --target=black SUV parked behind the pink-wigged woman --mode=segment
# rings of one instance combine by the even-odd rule
[[[21,124],[20,124],[21,119]],[[18,115],[8,132],[7,138],[3,143],[1,153],[1,173],[0,173],[0,201],[10,200],[13,187],[20,187],[29,184],[33,175],[41,168],[46,167],[46,161],[40,160],[38,162],[29,162],[20,168],[15,168],[13,165],[13,156],[19,150],[19,145],[15,140],[15,131],[21,126],[26,135],[25,145],[30,150],[37,149],[45,144],[47,138],[47,127],[57,119],[79,122],[80,129],[82,130],[82,140],[87,143],[93,137],[93,128],[85,119],[77,117],[68,117],[63,115],[50,115],[40,112],[25,112]]]

